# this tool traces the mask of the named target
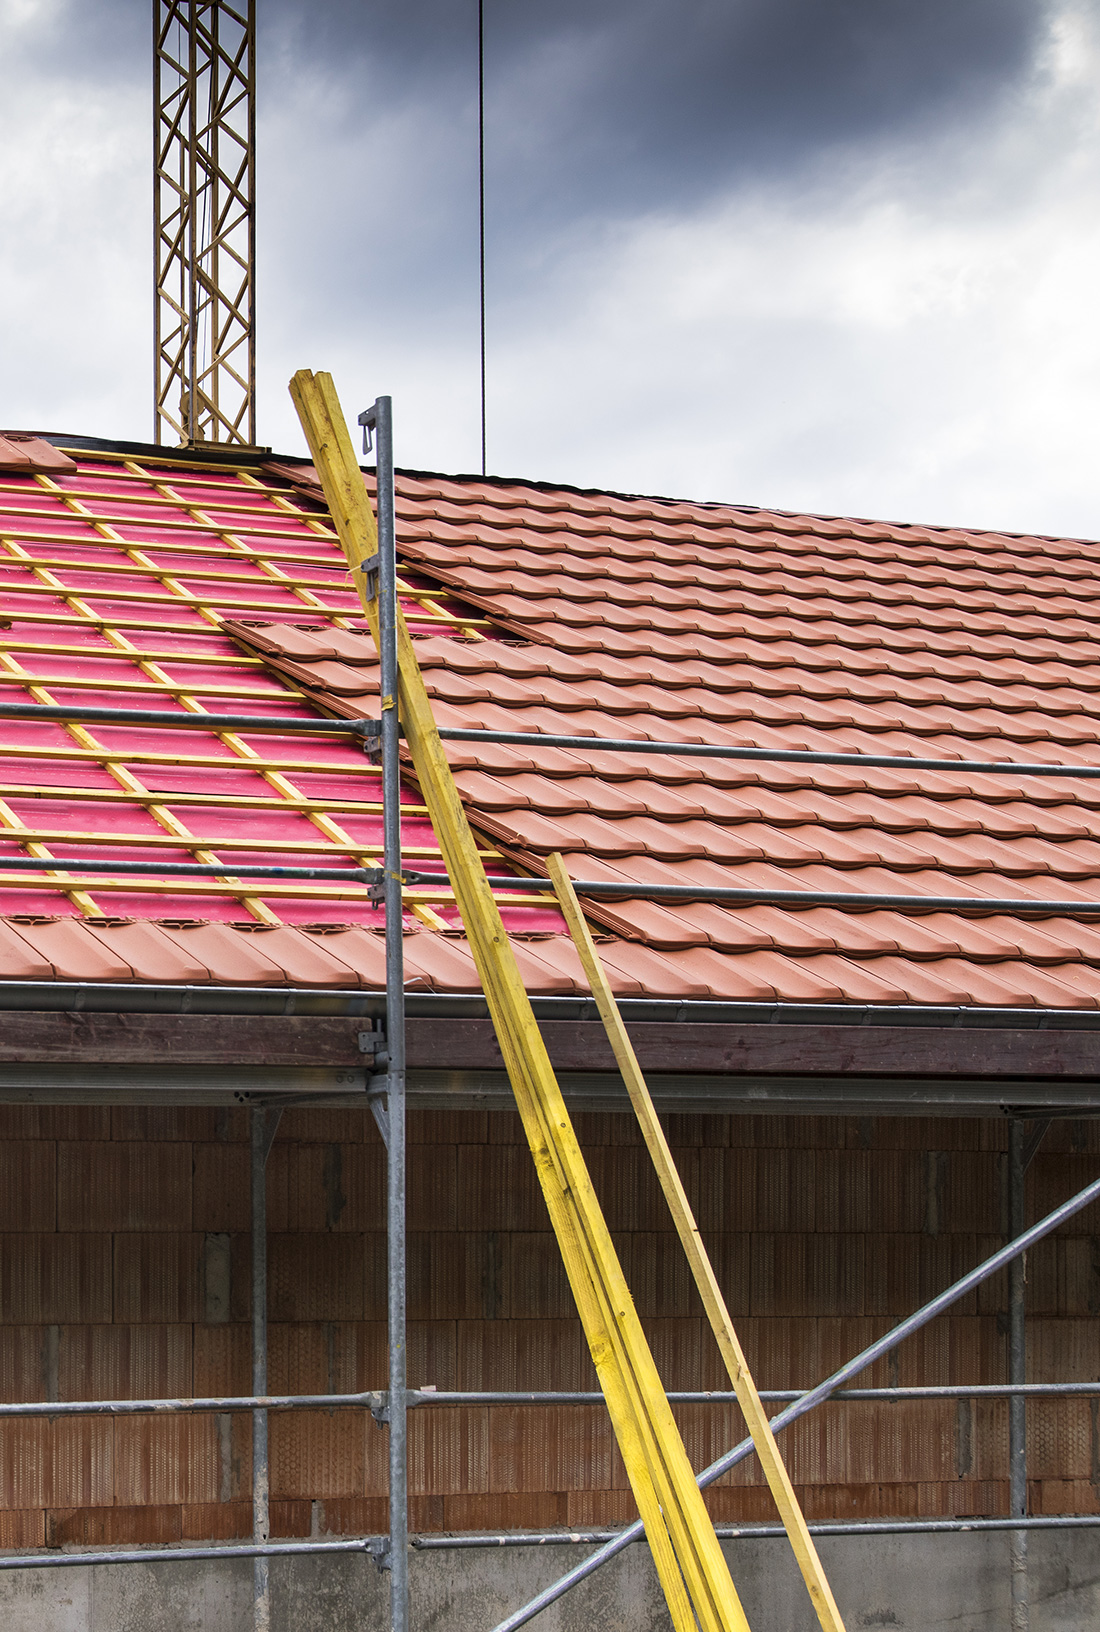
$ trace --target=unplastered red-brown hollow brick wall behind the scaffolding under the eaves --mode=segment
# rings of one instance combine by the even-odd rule
[[[726,1387],[628,1116],[578,1131],[669,1387]],[[0,1106],[0,1394],[8,1400],[246,1394],[243,1111]],[[674,1116],[669,1133],[761,1387],[808,1386],[1002,1240],[999,1121]],[[586,1389],[596,1379],[517,1120],[410,1116],[410,1381]],[[1030,1217],[1095,1178],[1092,1123],[1056,1123]],[[384,1152],[369,1113],[287,1111],[268,1177],[273,1392],[385,1386]],[[991,1283],[863,1381],[999,1382]],[[1028,1262],[1031,1381],[1100,1376],[1100,1213]],[[739,1413],[677,1408],[697,1466]],[[1098,1511],[1097,1410],[1028,1408],[1031,1506]],[[415,1529],[633,1516],[602,1407],[421,1408]],[[829,1405],[783,1438],[814,1518],[999,1513],[1007,1408]],[[248,1532],[250,1418],[0,1426],[0,1546]],[[385,1435],[357,1412],[271,1418],[281,1536],[385,1528]],[[770,1518],[754,1462],[710,1495]]]

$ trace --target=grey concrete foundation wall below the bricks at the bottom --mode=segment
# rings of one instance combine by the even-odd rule
[[[1031,1534],[1031,1632],[1100,1625],[1100,1531]],[[728,1542],[752,1632],[814,1632],[783,1541]],[[849,1632],[1000,1632],[1009,1624],[1004,1534],[821,1542]],[[488,1632],[557,1580],[579,1549],[432,1552],[413,1559],[415,1632]],[[388,1578],[369,1559],[273,1559],[273,1632],[384,1632]],[[664,1632],[668,1614],[641,1547],[540,1617],[539,1632]],[[0,1573],[3,1632],[251,1632],[251,1565],[122,1565]]]

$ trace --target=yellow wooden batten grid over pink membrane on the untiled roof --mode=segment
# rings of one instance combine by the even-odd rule
[[[33,627],[46,625],[42,633],[52,630],[77,633],[82,628],[93,628],[101,636],[103,645],[98,650],[103,656],[124,658],[129,664],[129,676],[116,671],[108,677],[100,672],[93,656],[95,643],[88,646],[86,641],[67,638],[15,638],[8,641],[0,636],[0,697],[11,697],[23,690],[31,698],[33,707],[49,710],[54,707],[54,694],[49,690],[52,685],[75,698],[72,713],[65,712],[65,716],[55,721],[69,743],[39,743],[26,738],[0,743],[0,759],[13,767],[26,767],[33,777],[31,782],[16,778],[7,785],[7,798],[0,800],[0,836],[16,844],[28,858],[44,863],[42,871],[34,875],[10,868],[8,883],[16,891],[16,899],[23,896],[23,899],[34,901],[42,893],[46,896],[52,893],[57,898],[60,893],[91,922],[104,919],[113,911],[101,906],[104,894],[108,898],[118,896],[119,906],[132,898],[149,901],[149,898],[163,896],[191,898],[196,906],[202,907],[237,898],[240,907],[261,924],[282,922],[277,912],[279,902],[317,901],[330,906],[346,902],[353,909],[356,906],[359,911],[369,909],[369,891],[351,873],[344,883],[325,883],[318,878],[317,883],[271,880],[246,886],[233,881],[232,863],[227,863],[224,870],[219,868],[217,878],[176,876],[175,880],[153,876],[155,865],[150,865],[149,876],[140,878],[132,875],[103,878],[96,876],[96,870],[91,870],[93,876],[85,876],[88,868],[82,873],[75,855],[67,868],[49,867],[54,860],[49,845],[64,844],[70,852],[86,852],[90,845],[108,845],[108,855],[116,850],[131,857],[142,852],[157,855],[175,849],[176,854],[183,852],[183,855],[189,855],[191,862],[206,865],[212,871],[217,865],[214,840],[235,850],[242,865],[250,852],[263,855],[264,852],[271,854],[273,849],[284,854],[287,863],[308,862],[317,865],[317,860],[326,854],[336,863],[351,863],[353,870],[354,867],[369,868],[375,862],[372,845],[354,839],[344,826],[348,818],[382,814],[382,803],[379,798],[369,796],[370,790],[364,790],[367,796],[326,798],[323,793],[313,795],[289,780],[289,774],[295,772],[313,777],[331,772],[346,778],[351,769],[346,759],[339,762],[339,756],[333,759],[331,752],[304,756],[294,738],[286,741],[289,733],[284,733],[284,741],[274,746],[274,751],[271,743],[263,741],[266,731],[259,744],[253,746],[248,741],[248,733],[242,736],[237,730],[230,730],[235,725],[230,716],[225,716],[222,723],[217,703],[219,698],[238,707],[242,703],[256,707],[276,702],[279,708],[289,705],[292,710],[291,723],[297,718],[299,723],[305,725],[302,705],[305,705],[307,713],[312,712],[308,698],[297,687],[279,682],[277,677],[268,677],[266,685],[232,684],[233,676],[227,676],[225,667],[238,666],[248,674],[263,669],[263,663],[240,653],[225,640],[217,641],[219,650],[209,650],[199,633],[206,628],[209,635],[215,635],[225,614],[269,617],[273,602],[268,599],[268,591],[255,599],[240,592],[225,594],[230,586],[238,591],[250,584],[258,589],[268,586],[284,607],[287,602],[297,604],[300,615],[313,623],[320,619],[331,628],[356,627],[361,609],[357,597],[349,589],[339,592],[346,566],[341,565],[343,558],[333,553],[331,547],[336,539],[331,526],[317,511],[304,508],[292,490],[261,480],[248,468],[240,468],[237,462],[228,470],[220,467],[225,472],[222,480],[193,473],[194,463],[188,459],[173,459],[162,468],[150,468],[149,462],[142,463],[132,457],[113,460],[106,454],[103,459],[96,455],[91,460],[91,468],[75,481],[65,477],[57,480],[52,473],[38,473],[28,480],[5,481],[0,490],[0,594],[15,592],[15,605],[8,601],[15,622]],[[134,486],[132,498],[126,493],[131,485]],[[62,516],[70,517],[73,527],[85,530],[59,527],[57,522]],[[180,537],[181,532],[193,534],[194,542],[184,543]],[[33,540],[39,540],[38,553]],[[42,543],[51,545],[47,553],[42,552]],[[59,545],[65,548],[65,553],[57,553]],[[287,550],[286,545],[291,548]],[[2,565],[5,557],[10,563],[7,571]],[[294,566],[302,565],[308,565],[313,576],[294,571]],[[233,570],[235,566],[240,570]],[[78,586],[70,581],[73,574],[80,576]],[[113,579],[118,578],[122,583],[114,588]],[[150,588],[135,588],[134,579],[145,581]],[[338,591],[336,602],[343,604],[331,604],[333,588]],[[403,583],[401,588],[408,597],[406,604],[418,620],[455,627],[455,615],[446,607],[449,599],[446,591],[424,589],[421,602],[413,584]],[[64,610],[52,610],[52,607],[26,610],[28,592],[36,597],[39,607],[42,601],[47,601],[64,607]],[[106,592],[114,605],[127,605],[129,602],[135,602],[135,609],[140,604],[160,604],[165,609],[180,605],[186,609],[188,615],[183,622],[176,622],[175,619],[121,619],[106,609],[100,614],[96,602],[101,592]],[[322,599],[323,594],[328,594],[330,599]],[[165,650],[155,650],[144,641],[135,645],[124,633],[124,630],[145,633],[153,627],[162,633],[178,632],[184,635],[186,645],[176,651],[170,645]],[[460,627],[465,633],[473,633],[465,623]],[[202,650],[204,646],[207,650]],[[73,666],[62,663],[62,658],[83,658],[91,659],[91,663]],[[171,672],[175,664],[186,666],[186,679]],[[72,672],[64,672],[65,667],[70,667]],[[209,679],[204,677],[204,671],[211,674]],[[163,747],[160,744],[150,747],[147,739],[134,747],[127,747],[126,741],[118,746],[104,743],[90,730],[95,715],[95,694],[103,694],[104,689],[119,695],[121,700],[134,697],[135,702],[149,698],[155,703],[158,698],[165,698],[173,708],[183,708],[193,718],[201,716],[204,725],[209,721],[206,728],[214,743],[220,744],[220,751],[209,752],[201,743],[188,743],[186,736],[193,736],[194,731],[186,733],[180,747],[173,746],[173,738],[178,739],[175,731],[168,731],[162,738]],[[144,697],[137,694],[144,694]],[[82,695],[90,695],[90,708],[80,708]],[[132,715],[132,707],[122,710],[122,713],[127,712]],[[153,718],[157,713],[153,707]],[[153,718],[149,721],[150,726]],[[170,718],[160,710],[158,728],[170,723]],[[259,725],[259,721],[256,723]],[[271,723],[277,726],[277,716],[273,716]],[[124,738],[127,734],[124,733]],[[276,736],[279,736],[277,730]],[[225,756],[225,749],[228,749],[230,757]],[[34,775],[36,764],[42,765],[42,774],[52,764],[70,764],[75,769],[82,765],[100,767],[118,783],[118,792],[111,793],[101,787],[52,787],[49,780],[42,783],[41,774]],[[155,774],[155,780],[163,782],[165,769],[171,765],[180,765],[184,775],[199,770],[228,770],[232,774],[233,767],[246,765],[261,782],[268,782],[274,798],[219,792],[219,777],[212,778],[209,792],[173,795],[149,787],[137,774],[139,767],[149,767]],[[377,769],[362,759],[356,759],[354,772],[356,778],[366,775],[377,782]],[[36,787],[36,783],[39,785]],[[351,793],[354,790],[341,788],[339,792]],[[41,823],[28,809],[28,795],[36,800],[60,798],[65,803],[77,800],[90,809],[95,809],[96,805],[101,809],[129,805],[132,809],[152,816],[165,832],[162,839],[153,839],[137,831],[96,834],[88,827],[73,829],[69,821]],[[13,808],[11,800],[15,800],[15,806],[23,809],[23,818]],[[295,813],[299,821],[313,829],[315,839],[248,836],[235,844],[232,832],[207,837],[201,831],[196,832],[193,823],[184,819],[184,811],[202,806],[211,806],[212,811],[251,809],[261,821],[279,811]],[[411,819],[424,814],[423,806],[415,801],[405,808]],[[199,827],[209,826],[209,819],[199,821]],[[263,834],[263,826],[256,832]],[[498,863],[503,860],[493,847],[485,849],[483,854]],[[437,845],[410,845],[410,857],[431,862],[437,855]],[[78,878],[73,876],[73,868],[80,875]],[[101,865],[98,873],[103,873]],[[447,898],[449,893],[444,891],[444,896]],[[415,919],[428,925],[437,927],[442,922],[431,904],[429,891],[410,894],[408,907]],[[353,916],[357,914],[353,911]]]

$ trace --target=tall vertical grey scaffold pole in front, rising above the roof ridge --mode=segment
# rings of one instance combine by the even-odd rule
[[[379,516],[379,659],[382,689],[382,839],[387,1035],[387,1327],[390,1371],[390,1625],[408,1632],[408,1412],[405,1240],[405,956],[401,904],[401,764],[397,664],[393,418],[374,405]]]

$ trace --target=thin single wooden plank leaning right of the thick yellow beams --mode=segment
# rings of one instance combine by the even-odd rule
[[[560,855],[548,857],[547,865],[550,878],[553,880],[558,906],[565,914],[565,922],[570,925],[573,945],[576,947],[588,984],[592,991],[592,997],[596,999],[596,1007],[599,1009],[601,1020],[604,1022],[607,1041],[615,1054],[615,1064],[619,1066],[622,1079],[627,1084],[627,1093],[630,1095],[630,1103],[638,1116],[641,1136],[650,1149],[650,1155],[653,1157],[658,1178],[661,1180],[661,1190],[664,1191],[664,1200],[669,1204],[672,1222],[676,1224],[676,1234],[681,1237],[681,1244],[687,1253],[687,1262],[695,1278],[699,1296],[703,1301],[710,1328],[715,1333],[723,1364],[730,1373],[730,1381],[733,1382],[738,1395],[738,1404],[741,1405],[744,1420],[749,1425],[756,1454],[761,1459],[772,1495],[775,1497],[775,1506],[778,1508],[790,1544],[795,1550],[798,1568],[801,1570],[803,1581],[806,1583],[806,1590],[818,1612],[818,1621],[821,1622],[824,1632],[844,1632],[841,1611],[836,1606],[829,1581],[826,1580],[826,1573],[821,1567],[818,1549],[814,1547],[813,1537],[806,1529],[806,1519],[798,1506],[798,1497],[795,1495],[795,1487],[790,1482],[790,1474],[787,1472],[783,1459],[778,1454],[778,1446],[775,1444],[767,1412],[761,1404],[761,1395],[756,1390],[756,1382],[752,1381],[744,1351],[738,1342],[738,1333],[733,1328],[726,1301],[721,1296],[721,1288],[718,1286],[718,1276],[715,1275],[707,1248],[703,1247],[702,1235],[699,1234],[699,1226],[695,1224],[687,1191],[684,1190],[672,1152],[669,1151],[669,1142],[664,1138],[664,1128],[661,1126],[661,1120],[653,1106],[653,1100],[650,1098],[650,1089],[641,1075],[638,1058],[627,1035],[622,1015],[619,1013],[619,1004],[615,1002],[615,994],[610,989],[610,981],[607,979],[607,973],[596,950],[592,932],[589,930],[584,914],[581,912],[581,904],[576,899],[573,880],[566,873],[565,862]]]

